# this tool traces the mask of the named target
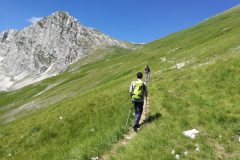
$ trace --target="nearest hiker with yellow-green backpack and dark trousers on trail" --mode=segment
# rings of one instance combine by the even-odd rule
[[[134,104],[135,114],[134,114],[134,124],[133,129],[135,132],[138,131],[140,127],[139,121],[141,119],[142,111],[143,111],[143,104],[144,104],[144,97],[147,98],[147,86],[142,81],[143,74],[142,72],[137,73],[137,81],[132,81],[129,93],[132,98],[132,103]]]

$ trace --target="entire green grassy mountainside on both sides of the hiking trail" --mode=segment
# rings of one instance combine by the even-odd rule
[[[128,86],[144,63],[152,69],[150,116],[160,113],[161,117],[119,148],[115,159],[174,159],[172,149],[179,154],[188,150],[186,159],[237,159],[239,21],[237,7],[134,52],[111,49],[104,58],[87,58],[57,77],[1,93],[0,115],[26,102],[49,104],[60,99],[0,126],[1,159],[89,159],[99,155],[126,132],[131,105]],[[166,61],[160,59],[163,57]],[[183,69],[171,68],[181,62],[187,62]],[[34,97],[56,82],[56,87]],[[200,131],[197,138],[183,137],[182,131],[192,128]],[[196,144],[200,152],[194,150]]]

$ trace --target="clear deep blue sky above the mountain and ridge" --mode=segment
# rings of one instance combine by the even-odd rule
[[[114,38],[150,42],[238,4],[240,0],[1,0],[0,31],[23,29],[32,17],[61,10]]]

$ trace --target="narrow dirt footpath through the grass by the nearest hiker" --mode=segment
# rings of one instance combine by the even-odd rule
[[[146,120],[148,113],[149,113],[149,99],[148,100],[145,99],[143,113],[140,120],[141,125],[144,124],[144,120]],[[113,144],[109,151],[106,151],[105,153],[103,153],[103,155],[100,156],[99,160],[109,160],[111,159],[111,157],[115,157],[117,149],[119,147],[127,145],[129,141],[131,141],[136,135],[137,133],[131,127],[128,133],[124,135],[124,138],[119,140],[117,143]]]

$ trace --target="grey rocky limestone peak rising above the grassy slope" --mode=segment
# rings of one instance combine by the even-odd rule
[[[0,33],[0,91],[35,83],[64,71],[102,46],[125,43],[81,25],[66,12],[44,17],[21,31]]]

